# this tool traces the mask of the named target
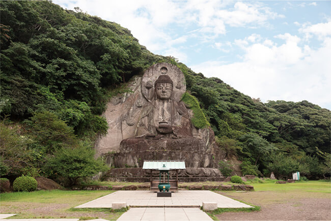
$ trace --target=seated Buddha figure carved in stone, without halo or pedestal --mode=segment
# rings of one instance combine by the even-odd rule
[[[135,137],[179,139],[192,136],[187,109],[172,98],[173,80],[161,74],[154,83],[155,98],[143,107]]]

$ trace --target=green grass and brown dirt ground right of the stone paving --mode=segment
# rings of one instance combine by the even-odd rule
[[[259,206],[260,211],[219,210],[212,212],[211,216],[219,220],[331,220],[330,181],[246,183],[253,185],[255,191],[216,192]]]

